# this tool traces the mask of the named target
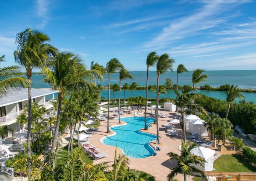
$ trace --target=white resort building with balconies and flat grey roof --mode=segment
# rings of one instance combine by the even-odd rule
[[[51,102],[57,92],[59,91],[51,89],[31,89],[32,102],[43,105],[46,109],[52,109]],[[14,133],[21,133],[21,126],[16,121],[17,116],[23,112],[25,104],[28,104],[28,89],[14,92],[0,100],[0,126],[7,125],[7,128]],[[11,135],[7,136],[11,137]]]

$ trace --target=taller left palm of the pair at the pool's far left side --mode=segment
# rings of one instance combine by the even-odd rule
[[[110,133],[109,130],[109,108],[110,108],[110,75],[113,73],[119,72],[124,66],[117,58],[112,58],[107,62],[106,70],[108,73],[108,104],[107,104],[107,133]]]

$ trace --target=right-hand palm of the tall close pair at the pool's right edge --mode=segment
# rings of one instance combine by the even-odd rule
[[[156,93],[156,134],[157,134],[157,143],[159,142],[159,129],[158,129],[158,103],[159,103],[159,79],[160,74],[164,74],[168,70],[173,72],[172,65],[175,62],[173,58],[170,58],[168,54],[161,55],[156,63],[156,73],[157,73],[157,93]]]

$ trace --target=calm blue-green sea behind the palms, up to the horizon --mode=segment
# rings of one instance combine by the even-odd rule
[[[127,79],[123,80],[121,85],[124,83],[131,84],[132,82],[137,82],[140,86],[146,85],[146,71],[134,71],[131,72],[134,76],[134,79]],[[213,87],[218,87],[220,85],[224,84],[234,84],[238,85],[239,88],[246,88],[246,89],[256,89],[256,70],[238,70],[238,71],[206,71],[204,72],[208,75],[208,79],[206,79],[206,82],[201,82],[200,85],[209,84]],[[117,83],[119,84],[119,78],[118,74],[111,74],[111,84]],[[108,76],[107,74],[104,75],[105,81],[100,82],[101,85],[107,86],[108,84]],[[163,75],[160,75],[160,84],[164,84],[165,79],[170,78],[173,80],[174,84],[177,82],[177,73],[176,72],[167,72]],[[32,75],[32,82],[33,88],[47,88],[50,87],[50,85],[47,85],[46,83],[42,82],[43,76],[42,75]],[[179,75],[179,85],[192,85],[192,71],[189,73],[183,73]],[[149,85],[156,85],[157,81],[157,75],[155,71],[149,72]],[[216,99],[225,99],[225,92],[220,91],[196,91],[205,94],[206,96],[214,97]],[[253,101],[256,102],[256,93],[246,93],[242,92],[242,94],[245,96],[246,101]],[[134,90],[132,93],[132,96],[145,96],[145,90]],[[102,96],[107,99],[107,90],[103,90]],[[130,92],[126,91],[125,97],[128,98],[130,96]],[[156,94],[153,93],[153,91],[149,91],[150,98],[155,98]],[[110,92],[110,97],[113,97],[113,93]],[[118,97],[118,92],[116,92],[116,98]],[[175,94],[172,90],[167,90],[167,94],[161,94],[160,98],[175,98]],[[110,98],[110,99],[111,99]],[[121,91],[121,98],[124,98],[124,91]]]

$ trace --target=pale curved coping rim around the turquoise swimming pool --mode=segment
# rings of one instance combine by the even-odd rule
[[[133,117],[133,116],[125,116],[125,117],[121,117],[121,118],[128,118],[128,117]],[[138,116],[138,117],[144,117],[144,116]],[[120,120],[121,120],[121,118],[120,118]],[[151,117],[147,117],[147,118],[153,119],[153,118],[151,118]],[[119,119],[119,118],[115,118],[114,120],[118,120],[118,119]],[[124,122],[124,121],[122,120],[122,122]],[[149,123],[149,128],[152,127],[151,124],[152,124],[152,123]],[[117,127],[117,126],[125,126],[125,125],[127,125],[126,122],[124,122],[124,124],[121,124],[121,125],[118,125],[118,124],[117,124],[117,125],[110,126],[110,128],[112,128],[112,127]],[[113,145],[108,145],[108,144],[105,144],[105,143],[103,142],[103,139],[106,139],[107,137],[112,137],[112,136],[114,136],[114,135],[117,134],[115,131],[113,131],[113,132],[114,132],[113,134],[110,134],[110,135],[108,135],[108,136],[104,136],[104,137],[100,138],[100,142],[103,143],[104,145],[115,147],[115,146],[113,146]],[[141,129],[139,129],[139,132],[140,132],[140,133],[151,134],[151,135],[157,136],[157,135],[154,134],[154,133],[147,133],[147,132],[142,131]],[[152,141],[149,141],[148,145],[149,145],[149,147],[155,152],[155,148],[150,144],[151,142],[152,142]],[[124,150],[121,149],[120,147],[118,147],[118,148],[122,151],[122,154],[124,154]],[[124,154],[124,155],[125,155],[125,154]],[[150,155],[149,157],[151,157],[151,156],[153,156],[153,154]],[[129,157],[129,156],[127,156],[127,157]],[[129,158],[132,158],[132,159],[143,159],[143,158],[134,158],[134,157],[129,157]],[[146,158],[146,157],[145,157],[145,158]]]

